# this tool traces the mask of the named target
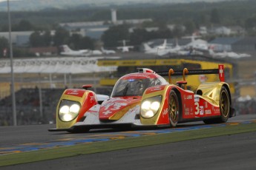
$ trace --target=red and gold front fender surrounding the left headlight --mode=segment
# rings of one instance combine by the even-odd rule
[[[80,104],[81,108],[79,110],[78,116],[69,121],[64,122],[59,119],[59,105],[62,101],[75,101]],[[80,120],[83,117],[86,111],[92,106],[96,105],[96,95],[94,92],[86,89],[66,89],[61,98],[59,99],[58,106],[56,107],[56,128],[57,129],[67,129],[73,126],[74,123]]]

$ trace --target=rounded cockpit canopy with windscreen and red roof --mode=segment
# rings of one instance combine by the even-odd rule
[[[111,98],[125,96],[142,96],[151,86],[168,84],[164,78],[154,73],[133,73],[125,75],[116,82]]]

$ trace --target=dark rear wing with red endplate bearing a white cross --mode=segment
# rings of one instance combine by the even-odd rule
[[[209,75],[209,74],[219,74],[220,81],[225,81],[225,75],[224,75],[224,65],[219,64],[219,67],[217,69],[183,69],[183,70],[173,70],[169,69],[168,72],[157,72],[158,75],[162,76],[169,76],[169,79],[171,80],[171,76],[175,75],[183,75],[183,79],[185,75]],[[185,81],[185,80],[184,80]]]

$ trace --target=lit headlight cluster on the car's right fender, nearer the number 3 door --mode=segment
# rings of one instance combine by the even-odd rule
[[[157,114],[160,108],[160,103],[162,101],[162,95],[157,95],[152,98],[146,98],[142,101],[140,114],[143,118],[152,118]]]

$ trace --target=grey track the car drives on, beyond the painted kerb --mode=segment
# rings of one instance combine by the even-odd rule
[[[230,118],[229,122],[246,121],[256,119],[255,115],[237,115]],[[190,127],[202,125],[203,122],[183,123],[177,127]],[[70,134],[68,132],[48,132],[47,129],[55,128],[54,124],[30,125],[30,126],[0,126],[0,148],[3,146],[13,146],[25,143],[45,143],[53,140],[65,140],[67,138],[87,137],[89,135],[107,135],[118,132],[113,129],[91,130],[88,133]],[[140,131],[138,131],[140,132]],[[256,145],[256,144],[255,144]]]

